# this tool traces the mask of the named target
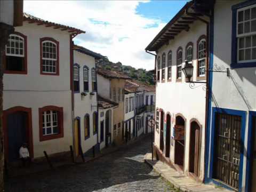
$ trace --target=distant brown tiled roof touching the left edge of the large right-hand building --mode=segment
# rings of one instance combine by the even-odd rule
[[[126,80],[124,87],[125,87],[125,91],[129,93],[140,92],[140,91],[146,91],[146,92],[156,91],[156,87],[154,85],[148,85],[146,83],[136,81],[134,79]]]

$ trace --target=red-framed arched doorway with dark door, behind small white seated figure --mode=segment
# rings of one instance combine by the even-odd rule
[[[30,157],[33,158],[33,134],[31,108],[13,107],[3,111],[4,155],[7,162],[19,159],[22,143],[28,144]]]

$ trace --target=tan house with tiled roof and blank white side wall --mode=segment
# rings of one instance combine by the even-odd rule
[[[118,103],[118,107],[113,110],[113,125],[111,127],[111,140],[116,145],[124,142],[124,88],[127,75],[119,71],[110,71],[106,69],[97,70],[98,93],[102,98],[109,99]],[[113,131],[112,131],[113,130]],[[109,130],[110,132],[110,130]]]

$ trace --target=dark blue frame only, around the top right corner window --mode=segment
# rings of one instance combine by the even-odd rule
[[[237,38],[236,38],[236,18],[237,18],[237,9],[241,9],[246,6],[250,6],[256,3],[256,0],[246,1],[233,5],[232,9],[232,35],[231,35],[231,64],[230,67],[235,68],[248,68],[256,67],[256,62],[242,62],[237,63]]]

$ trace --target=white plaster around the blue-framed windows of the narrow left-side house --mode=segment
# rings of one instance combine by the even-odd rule
[[[97,93],[90,95],[92,92],[92,73],[91,69],[95,68],[95,59],[84,53],[74,51],[74,63],[77,63],[79,68],[79,86],[80,92],[74,93],[74,117],[81,118],[81,145],[83,153],[86,153],[87,150],[91,149],[94,145],[97,144],[97,134],[93,134],[93,113],[97,112]],[[89,92],[87,95],[81,97],[81,93],[84,91],[84,82],[83,82],[83,67],[87,66],[89,68]],[[93,105],[94,107],[92,107]],[[90,115],[90,138],[84,138],[84,116],[86,114]],[[98,121],[99,122],[99,121]],[[97,122],[97,123],[98,123]],[[98,126],[98,133],[100,132],[100,126]]]

